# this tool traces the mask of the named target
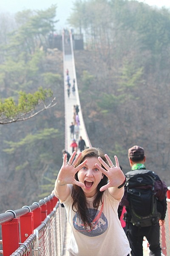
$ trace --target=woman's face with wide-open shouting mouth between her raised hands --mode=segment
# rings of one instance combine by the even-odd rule
[[[86,159],[88,162],[78,171],[77,175],[79,181],[85,184],[85,188],[82,188],[85,196],[90,198],[96,194],[103,173],[95,166],[95,163],[102,166],[96,157],[86,157],[84,160]]]

